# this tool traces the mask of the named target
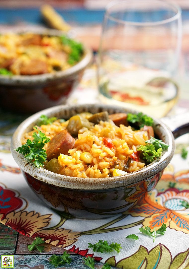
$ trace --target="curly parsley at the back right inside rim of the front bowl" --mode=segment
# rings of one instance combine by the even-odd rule
[[[154,121],[152,118],[150,118],[147,115],[144,115],[142,112],[139,112],[138,114],[127,114],[127,121],[131,123],[136,123],[139,125],[139,128],[144,127],[144,125],[152,126]]]

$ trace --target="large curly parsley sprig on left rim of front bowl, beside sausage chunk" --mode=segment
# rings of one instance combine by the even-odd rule
[[[44,133],[34,127],[38,132],[33,133],[33,141],[27,139],[26,144],[15,150],[24,155],[26,159],[33,162],[36,167],[43,167],[43,162],[47,158],[46,150],[43,149],[44,145],[50,141]]]

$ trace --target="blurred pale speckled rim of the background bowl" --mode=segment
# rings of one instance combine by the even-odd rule
[[[9,31],[11,32],[11,31]],[[16,33],[27,33],[32,32],[36,34],[49,35],[49,36],[61,36],[65,33],[53,29],[44,29],[44,30],[25,30],[25,31],[16,31]],[[3,33],[4,34],[4,33]],[[74,39],[76,40],[76,39]],[[79,41],[78,41],[79,42]],[[58,79],[64,79],[70,76],[73,76],[79,73],[81,70],[85,69],[87,65],[90,64],[93,58],[93,53],[90,48],[87,48],[83,45],[84,53],[82,59],[73,65],[72,67],[63,70],[56,71],[55,73],[45,73],[41,75],[13,75],[13,76],[4,76],[0,75],[0,84],[4,85],[35,85],[39,83],[54,81]]]

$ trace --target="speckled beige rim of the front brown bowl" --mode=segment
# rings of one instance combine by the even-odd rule
[[[155,118],[153,118],[154,129],[156,130],[157,135],[170,146],[168,147],[168,150],[163,151],[161,157],[157,158],[154,162],[136,172],[131,172],[127,175],[98,179],[76,178],[72,176],[59,175],[44,168],[35,167],[35,165],[33,165],[31,162],[28,162],[22,154],[19,154],[14,150],[15,148],[21,146],[21,138],[23,133],[32,130],[32,127],[36,124],[40,115],[42,114],[45,114],[48,117],[56,116],[57,118],[62,118],[62,115],[64,114],[64,118],[69,118],[70,116],[83,111],[96,113],[98,111],[104,110],[107,110],[110,114],[116,112],[138,113],[132,109],[103,104],[58,105],[44,109],[27,118],[15,130],[11,140],[11,153],[14,160],[22,171],[33,176],[39,181],[48,183],[53,186],[75,190],[104,190],[129,186],[131,184],[140,183],[141,181],[148,178],[152,178],[167,167],[175,151],[174,137],[171,130],[160,120]]]

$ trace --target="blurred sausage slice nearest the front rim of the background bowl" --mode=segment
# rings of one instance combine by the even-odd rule
[[[29,62],[22,62],[20,67],[21,75],[39,75],[44,73],[48,73],[48,65],[42,60],[32,59]]]

